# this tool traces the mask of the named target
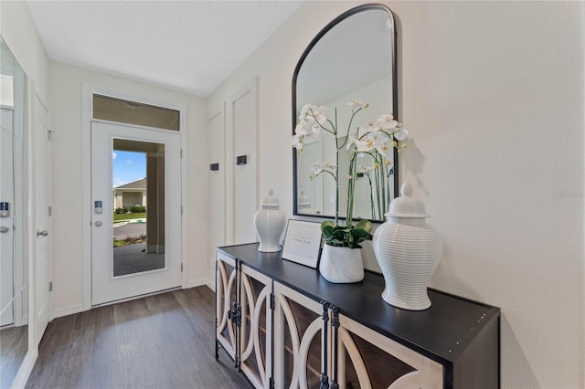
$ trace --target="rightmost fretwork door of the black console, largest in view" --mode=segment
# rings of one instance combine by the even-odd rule
[[[440,363],[342,314],[339,315],[337,347],[336,379],[342,389],[443,387]]]

